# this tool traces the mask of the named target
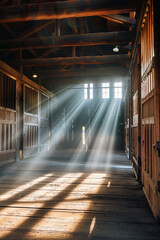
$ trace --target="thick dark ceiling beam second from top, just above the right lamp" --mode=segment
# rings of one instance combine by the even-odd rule
[[[131,31],[85,33],[54,37],[37,37],[28,39],[1,40],[0,51],[30,49],[30,48],[53,48],[72,46],[92,46],[107,44],[126,44],[133,40]]]

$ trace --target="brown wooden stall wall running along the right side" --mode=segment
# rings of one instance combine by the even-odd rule
[[[131,72],[131,160],[156,219],[160,217],[158,4],[147,2]]]

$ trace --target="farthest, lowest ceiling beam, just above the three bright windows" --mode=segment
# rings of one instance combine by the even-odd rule
[[[79,69],[79,70],[37,70],[36,74],[41,78],[59,78],[59,77],[74,77],[74,76],[108,76],[112,73],[126,76],[128,67],[125,66],[110,66],[106,68],[90,68],[90,69]],[[30,76],[33,72],[28,73]],[[27,75],[28,75],[27,74]]]

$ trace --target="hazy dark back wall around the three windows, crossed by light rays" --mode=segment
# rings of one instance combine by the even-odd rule
[[[125,83],[123,83],[123,91],[125,91]],[[115,111],[115,101],[117,104],[120,103],[120,110],[116,122],[116,129],[114,130],[115,141],[113,149],[115,151],[124,151],[124,100],[115,99],[114,82],[110,82],[110,97],[108,99],[102,99],[102,83],[93,84],[93,99],[84,99],[84,84],[72,85],[70,88],[68,87],[64,95],[67,94],[67,92],[70,98],[56,110],[57,122],[60,124],[59,127],[63,132],[61,133],[63,136],[57,147],[68,149],[81,147],[83,144],[83,127],[85,127],[87,149],[92,150],[98,147],[98,143],[97,146],[95,146],[95,141],[97,141],[99,137],[101,142],[103,142],[103,130],[105,131],[105,129],[108,129],[107,124],[111,124],[110,122],[113,122],[114,117],[116,117],[116,113],[114,113],[112,119],[107,118],[107,114],[111,114]],[[73,102],[75,105],[77,102],[82,104],[77,114],[71,111],[72,108],[74,109]],[[102,129],[102,126],[104,126],[104,129]],[[107,143],[107,139],[109,136],[111,137],[111,135],[113,135],[112,130],[111,124],[110,130],[106,131],[106,142],[104,141],[101,146],[104,150],[108,148],[109,144]]]

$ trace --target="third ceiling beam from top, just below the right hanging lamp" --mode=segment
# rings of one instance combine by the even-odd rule
[[[83,56],[83,57],[56,57],[56,58],[34,58],[23,59],[21,62],[18,59],[12,60],[10,64],[22,64],[25,66],[54,66],[54,65],[74,65],[74,64],[105,64],[124,62],[129,63],[130,56],[122,55],[104,55],[104,56]]]

